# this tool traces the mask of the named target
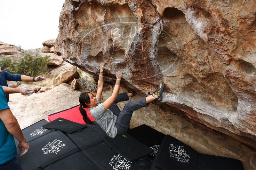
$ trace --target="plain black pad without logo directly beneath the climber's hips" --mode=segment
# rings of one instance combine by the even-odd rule
[[[117,134],[115,138],[104,137],[103,139],[111,148],[129,161],[144,158],[152,152],[152,149],[140,143],[128,133]]]

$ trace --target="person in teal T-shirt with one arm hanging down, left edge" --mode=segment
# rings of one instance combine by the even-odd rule
[[[1,74],[2,70],[0,70],[0,80]],[[15,158],[17,152],[13,136],[18,139],[18,147],[22,151],[21,156],[23,156],[28,152],[29,145],[22,134],[16,117],[7,104],[3,87],[0,86],[0,169],[22,170]]]

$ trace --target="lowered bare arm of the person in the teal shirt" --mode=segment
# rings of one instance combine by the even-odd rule
[[[21,156],[28,152],[29,145],[26,143],[20,125],[10,109],[0,110],[0,119],[3,121],[7,131],[18,139]]]

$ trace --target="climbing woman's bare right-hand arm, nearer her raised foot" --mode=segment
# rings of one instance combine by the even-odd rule
[[[119,93],[119,89],[120,89],[120,82],[121,82],[122,74],[123,74],[122,72],[116,72],[116,84],[115,84],[113,93],[103,103],[103,107],[105,110],[107,110],[111,106],[111,104],[116,100],[116,97],[117,97],[117,95]]]

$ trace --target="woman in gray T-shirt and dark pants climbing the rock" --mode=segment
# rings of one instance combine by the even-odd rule
[[[105,102],[101,103],[100,100],[104,81],[103,70],[104,64],[102,63],[100,64],[100,76],[96,97],[90,92],[82,93],[79,97],[79,110],[83,116],[84,122],[87,124],[92,124],[92,121],[89,119],[86,111],[83,109],[89,108],[95,122],[99,124],[104,131],[106,131],[109,137],[114,138],[116,134],[123,134],[124,132],[128,131],[133,111],[142,107],[148,107],[149,103],[153,100],[162,100],[164,82],[162,82],[159,87],[155,89],[152,95],[147,97],[144,96],[140,99],[127,102],[121,111],[116,103],[129,100],[129,97],[135,96],[136,92],[133,90],[128,90],[127,93],[118,94],[122,72],[116,72],[116,84],[113,93]]]

